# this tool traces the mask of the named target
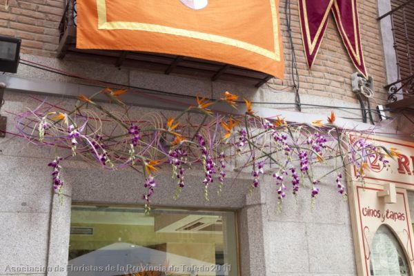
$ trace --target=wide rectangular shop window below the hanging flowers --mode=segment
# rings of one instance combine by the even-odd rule
[[[68,275],[238,275],[235,213],[72,206]]]

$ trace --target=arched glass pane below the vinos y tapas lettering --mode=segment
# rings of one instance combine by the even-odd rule
[[[370,267],[372,276],[409,276],[406,255],[388,226],[378,228],[373,238]]]

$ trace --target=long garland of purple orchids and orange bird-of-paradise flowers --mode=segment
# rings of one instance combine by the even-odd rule
[[[375,146],[363,137],[350,141],[347,131],[335,126],[333,112],[325,124],[323,120],[293,124],[280,117],[259,117],[246,99],[245,115],[213,112],[210,108],[218,102],[236,108],[237,95],[225,92],[215,101],[197,97],[195,106],[189,106],[174,118],[163,118],[158,113],[133,121],[128,106],[119,99],[126,92],[106,88],[89,98],[80,95],[71,111],[55,111],[51,110],[55,108],[52,104],[48,107],[43,104],[17,116],[17,129],[32,143],[72,151],[68,157],[56,157],[48,164],[53,168],[53,188],[57,193],[61,194],[64,186],[60,177],[61,163],[80,155],[106,170],[133,168],[143,173],[146,189],[143,199],[148,213],[160,166],[165,164],[172,168],[172,177],[177,180],[175,199],[186,186],[186,170],[201,166],[205,173],[204,197],[208,200],[212,184],[217,183],[218,194],[224,188],[229,160],[244,157],[244,164],[235,170],[251,171],[250,192],[260,185],[263,175],[273,175],[280,210],[288,186],[295,197],[306,188],[315,199],[319,194],[318,184],[326,176],[335,174],[337,192],[346,198],[340,170],[353,165],[357,168],[357,177],[363,181],[365,172],[370,170],[371,158],[379,157],[382,165],[388,167],[388,157],[399,155],[395,148]],[[106,95],[120,111],[105,108],[95,100],[99,95]],[[98,112],[103,112],[104,117],[99,117]],[[198,116],[185,119],[184,115],[189,113]],[[322,177],[315,177],[313,166],[328,160],[335,161],[335,168]],[[286,181],[288,178],[290,184]]]

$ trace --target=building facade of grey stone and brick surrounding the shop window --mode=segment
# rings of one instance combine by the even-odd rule
[[[8,9],[6,2],[10,2]],[[309,71],[302,46],[297,2],[292,1],[290,5],[293,46],[300,81],[299,95],[302,103],[311,104],[303,105],[302,112],[298,112],[294,105],[277,104],[295,101],[295,93],[291,88],[291,46],[288,42],[284,1],[280,3],[280,14],[286,60],[285,79],[270,79],[260,88],[186,75],[163,75],[139,68],[116,68],[113,63],[93,56],[68,54],[65,59],[57,59],[58,27],[65,8],[63,0],[0,0],[0,35],[22,39],[22,60],[74,72],[90,79],[105,79],[129,86],[212,98],[217,98],[228,90],[246,99],[268,103],[262,106],[274,109],[275,115],[291,112],[288,114],[297,117],[300,123],[306,122],[307,117],[324,119],[332,109],[312,105],[355,108],[338,109],[335,112],[337,117],[349,118],[347,120],[355,124],[364,125],[361,110],[357,109],[360,104],[351,89],[351,74],[355,69],[342,46],[333,18],[329,19],[319,55]],[[377,21],[378,3],[375,0],[359,1],[358,8],[366,66],[368,74],[375,81],[375,97],[371,107],[385,105],[388,94],[383,87],[388,79],[383,34]],[[86,88],[83,85],[91,85],[64,74],[56,75],[23,64],[19,66],[17,74],[2,77],[0,76],[0,82],[6,82],[5,77],[14,77],[21,79],[21,83],[29,83],[26,90],[8,90],[6,87],[5,104],[0,112],[10,118],[10,132],[14,129],[13,114],[26,107],[35,108],[39,105],[34,97],[41,97],[31,94],[30,85],[42,82],[56,84],[55,95],[48,99],[61,107],[70,106],[75,100],[66,98],[67,95],[59,89],[68,85],[79,90],[76,92],[81,92],[81,89]],[[157,109],[148,107],[138,106],[132,109],[137,116],[145,112],[157,112]],[[175,111],[166,112],[174,114]],[[377,115],[374,117],[378,121]],[[409,131],[408,127],[404,129],[389,121],[378,123],[379,126],[381,124],[388,131],[399,128],[402,137],[408,139],[404,136],[404,132]],[[402,124],[408,126],[411,123],[406,121]],[[6,267],[66,266],[71,205],[144,204],[138,187],[143,180],[141,176],[137,177],[134,172],[103,173],[97,168],[86,168],[81,160],[70,161],[65,167],[63,173],[67,181],[61,204],[50,188],[50,169],[46,166],[54,157],[53,150],[34,148],[19,137],[7,135],[0,139],[0,275],[66,275],[66,271],[10,272],[6,271]],[[328,170],[328,166],[320,166],[318,174],[323,175]],[[311,197],[304,193],[299,197],[298,204],[293,197],[287,199],[284,210],[278,214],[277,193],[271,185],[273,180],[270,177],[263,181],[268,185],[262,185],[253,196],[248,197],[245,191],[250,185],[250,175],[236,172],[229,172],[229,175],[230,178],[237,177],[237,185],[226,187],[221,197],[212,195],[210,201],[206,202],[197,188],[197,184],[202,181],[202,173],[194,170],[188,176],[190,184],[186,188],[186,196],[175,201],[170,196],[174,193],[174,187],[168,185],[170,175],[161,172],[159,182],[164,189],[155,195],[153,205],[235,212],[240,275],[357,275],[350,208],[346,201],[338,199],[336,190],[330,187],[334,185],[335,177],[326,179],[321,184],[324,193],[319,196],[313,210]],[[131,193],[133,190],[137,192]],[[408,195],[412,205],[413,194]],[[414,209],[411,212],[414,213]]]

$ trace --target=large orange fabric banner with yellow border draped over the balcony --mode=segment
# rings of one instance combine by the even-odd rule
[[[283,79],[279,0],[77,0],[77,48],[195,57]]]

